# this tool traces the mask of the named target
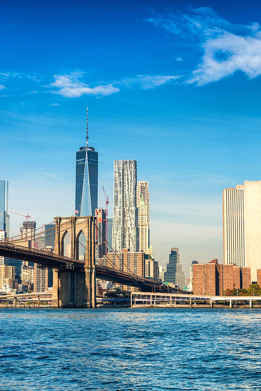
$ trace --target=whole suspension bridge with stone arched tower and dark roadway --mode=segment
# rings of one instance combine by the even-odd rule
[[[139,276],[131,270],[123,271],[95,262],[95,217],[55,217],[55,226],[54,253],[21,245],[25,243],[24,238],[0,242],[0,256],[29,261],[53,269],[53,306],[96,308],[96,277],[138,287],[147,292],[161,290],[162,283],[158,280]],[[67,233],[71,239],[71,257],[64,256],[64,239]],[[86,238],[85,261],[79,260],[82,233]],[[40,234],[38,236],[40,237]]]

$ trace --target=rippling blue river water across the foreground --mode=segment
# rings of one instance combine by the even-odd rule
[[[259,309],[1,309],[1,391],[261,390]]]

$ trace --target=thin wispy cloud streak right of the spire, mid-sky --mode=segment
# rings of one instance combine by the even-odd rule
[[[180,75],[136,75],[135,77],[126,77],[122,80],[125,86],[139,85],[143,90],[162,86],[169,81],[180,78]]]

